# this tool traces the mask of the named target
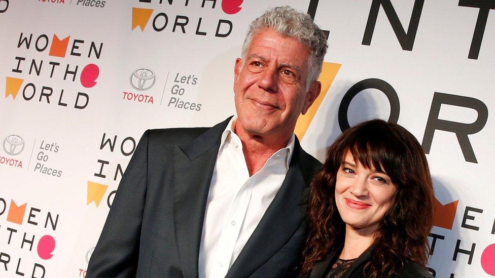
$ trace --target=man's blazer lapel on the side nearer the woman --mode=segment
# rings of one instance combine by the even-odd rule
[[[226,277],[248,277],[282,247],[306,215],[306,154],[296,139],[289,171]]]

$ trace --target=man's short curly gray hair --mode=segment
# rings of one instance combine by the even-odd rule
[[[306,88],[309,88],[311,82],[316,81],[320,75],[323,58],[327,53],[327,38],[323,30],[314,24],[308,14],[298,12],[289,6],[270,9],[251,22],[242,45],[243,61],[254,34],[265,28],[271,28],[281,35],[296,38],[299,43],[309,49],[308,77],[306,80]]]

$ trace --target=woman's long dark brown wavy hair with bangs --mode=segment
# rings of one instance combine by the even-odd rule
[[[337,171],[350,151],[356,163],[385,172],[397,186],[395,203],[374,234],[375,248],[365,266],[369,277],[386,277],[406,263],[425,266],[433,226],[433,184],[428,161],[416,138],[403,127],[382,120],[363,122],[345,130],[332,144],[311,182],[308,240],[302,274],[343,243],[345,223],[335,204]],[[365,274],[365,273],[363,273]]]

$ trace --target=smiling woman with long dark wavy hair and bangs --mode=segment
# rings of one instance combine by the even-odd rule
[[[371,120],[328,150],[309,191],[306,277],[433,277],[426,269],[433,184],[403,127]]]

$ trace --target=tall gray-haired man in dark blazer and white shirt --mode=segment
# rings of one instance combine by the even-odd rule
[[[320,94],[326,49],[324,32],[290,7],[254,20],[234,66],[237,115],[145,132],[87,277],[294,276],[321,166],[294,128]]]

